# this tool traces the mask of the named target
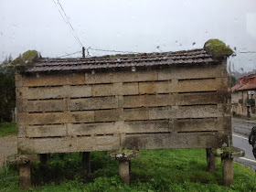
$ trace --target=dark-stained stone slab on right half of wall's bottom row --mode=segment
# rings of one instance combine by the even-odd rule
[[[218,148],[229,144],[226,133],[144,133],[125,135],[122,146],[128,149]]]

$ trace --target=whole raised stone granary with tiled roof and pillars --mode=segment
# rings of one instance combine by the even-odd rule
[[[227,54],[215,55],[211,43],[177,52],[37,59],[20,67],[20,185],[30,185],[29,155],[45,161],[49,153],[83,152],[90,170],[90,152],[113,151],[129,183],[138,150],[196,147],[207,149],[209,171],[216,169],[212,149],[221,148],[224,184],[231,184]]]

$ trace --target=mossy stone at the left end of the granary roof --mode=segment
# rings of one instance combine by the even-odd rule
[[[10,64],[11,65],[21,65],[25,66],[32,63],[35,59],[38,58],[37,50],[27,50],[25,53],[14,59]]]

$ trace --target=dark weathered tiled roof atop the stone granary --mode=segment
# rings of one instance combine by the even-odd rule
[[[69,71],[90,69],[146,68],[151,66],[212,64],[213,59],[204,49],[164,53],[141,53],[102,56],[86,59],[39,59],[25,72]]]

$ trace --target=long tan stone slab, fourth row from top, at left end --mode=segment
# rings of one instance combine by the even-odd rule
[[[17,112],[19,124],[92,123],[94,112]]]

